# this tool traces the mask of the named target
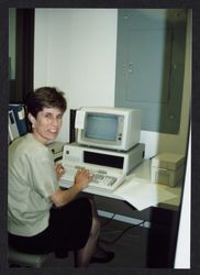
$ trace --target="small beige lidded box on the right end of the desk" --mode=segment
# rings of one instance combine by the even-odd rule
[[[152,182],[176,186],[184,177],[185,156],[174,153],[162,153],[152,158]]]

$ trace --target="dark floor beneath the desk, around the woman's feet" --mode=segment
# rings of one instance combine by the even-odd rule
[[[92,263],[88,268],[145,267],[147,229],[142,227],[129,229],[131,224],[114,220],[103,226],[104,221],[102,220],[100,243],[103,249],[113,251],[115,257],[105,264]],[[66,258],[56,258],[52,254],[43,266],[71,268],[74,267],[74,253],[69,252]]]

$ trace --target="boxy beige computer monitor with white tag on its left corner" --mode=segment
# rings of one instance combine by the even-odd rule
[[[79,144],[129,151],[140,141],[141,111],[114,107],[84,107],[77,110],[75,128]]]

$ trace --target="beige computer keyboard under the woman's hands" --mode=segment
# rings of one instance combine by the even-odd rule
[[[110,167],[102,167],[93,164],[67,164],[64,165],[65,174],[60,178],[62,182],[66,182],[68,186],[71,186],[75,180],[77,170],[88,169],[93,176],[92,182],[89,183],[88,187],[113,191],[120,186],[125,177],[125,174],[121,169],[114,169]]]

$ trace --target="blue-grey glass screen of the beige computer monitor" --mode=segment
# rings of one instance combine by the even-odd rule
[[[88,113],[85,136],[88,139],[115,141],[118,136],[118,116]]]

